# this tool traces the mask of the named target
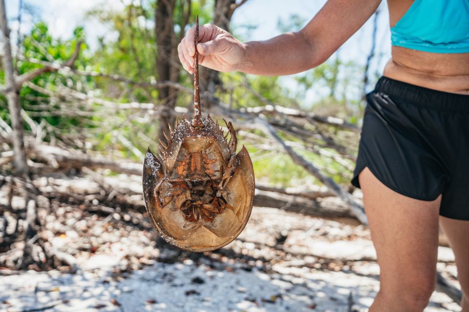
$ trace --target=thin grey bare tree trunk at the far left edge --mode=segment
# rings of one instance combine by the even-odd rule
[[[5,1],[0,0],[0,28],[1,40],[3,43],[3,69],[5,71],[5,93],[8,101],[8,110],[10,111],[10,119],[13,136],[13,151],[15,174],[22,176],[28,174],[28,166],[26,164],[26,153],[24,152],[23,140],[23,121],[21,119],[20,99],[18,96],[18,88],[15,82],[15,74],[13,68],[13,58],[11,55],[10,30],[6,19]]]

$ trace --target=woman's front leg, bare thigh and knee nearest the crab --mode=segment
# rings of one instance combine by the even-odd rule
[[[434,201],[406,197],[368,168],[359,179],[381,271],[380,291],[369,311],[422,312],[436,283],[441,195]]]

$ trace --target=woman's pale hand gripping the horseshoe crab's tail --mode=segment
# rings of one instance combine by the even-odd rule
[[[177,52],[182,66],[189,73],[194,72],[195,27],[191,27],[179,45]],[[199,64],[220,72],[237,70],[244,62],[245,45],[230,33],[215,26],[199,26]]]

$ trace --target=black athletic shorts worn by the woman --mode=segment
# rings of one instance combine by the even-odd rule
[[[382,77],[366,96],[357,164],[388,188],[434,200],[440,215],[469,220],[469,95]]]

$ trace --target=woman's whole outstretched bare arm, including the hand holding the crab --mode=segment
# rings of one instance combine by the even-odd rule
[[[199,28],[199,63],[218,71],[279,76],[299,73],[328,59],[376,11],[381,0],[329,0],[298,32],[242,43],[213,25]],[[192,27],[178,46],[184,68],[193,73]],[[191,51],[192,50],[192,51]]]

